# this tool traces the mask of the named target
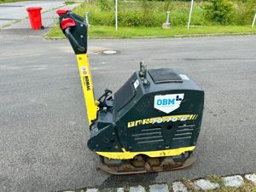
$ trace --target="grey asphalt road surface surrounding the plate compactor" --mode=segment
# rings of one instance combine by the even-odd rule
[[[41,34],[39,32],[39,34]],[[96,169],[76,57],[66,40],[0,31],[0,191],[52,191],[254,172],[256,36],[89,40],[96,96],[139,61],[179,67],[206,91],[197,162],[175,172],[111,176]],[[117,55],[95,54],[118,49]]]

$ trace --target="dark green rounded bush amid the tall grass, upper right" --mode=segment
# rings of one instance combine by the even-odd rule
[[[232,21],[233,5],[230,0],[211,0],[205,7],[206,17],[218,24],[228,25]]]

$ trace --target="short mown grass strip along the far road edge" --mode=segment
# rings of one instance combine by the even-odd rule
[[[91,26],[90,38],[175,38],[193,35],[231,35],[231,34],[256,34],[256,27],[251,26],[205,26],[186,27],[174,26],[172,29],[161,27],[119,27],[118,31],[112,26]],[[46,38],[64,38],[59,26],[49,31]]]

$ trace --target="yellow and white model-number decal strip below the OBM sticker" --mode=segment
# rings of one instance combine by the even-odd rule
[[[184,120],[195,120],[197,118],[197,114],[179,114],[172,116],[164,116],[164,117],[155,117],[148,119],[139,119],[128,122],[128,128],[135,127],[137,125],[148,125],[148,124],[160,124],[166,122],[176,122],[176,121],[184,121]]]

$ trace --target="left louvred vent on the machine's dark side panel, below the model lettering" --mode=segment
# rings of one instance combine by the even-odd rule
[[[163,142],[161,127],[152,127],[141,130],[137,134],[131,135],[138,144]]]

